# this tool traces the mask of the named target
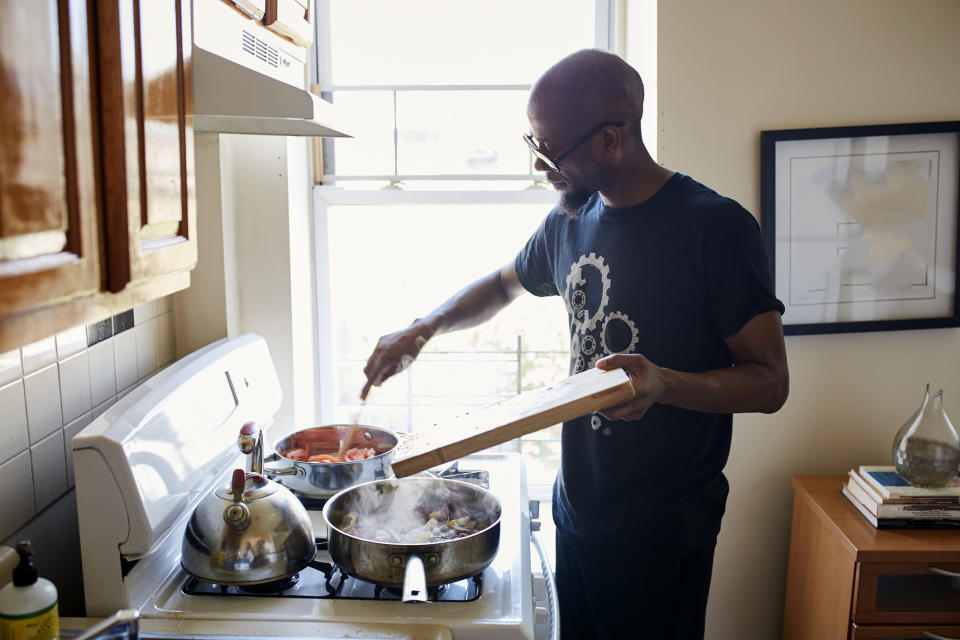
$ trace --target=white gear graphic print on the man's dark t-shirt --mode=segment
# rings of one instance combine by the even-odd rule
[[[580,256],[570,267],[563,292],[570,319],[570,375],[594,368],[601,358],[637,348],[636,324],[626,313],[609,308],[613,278],[610,266],[596,253]],[[591,416],[590,426],[604,436],[613,433],[598,414]]]

